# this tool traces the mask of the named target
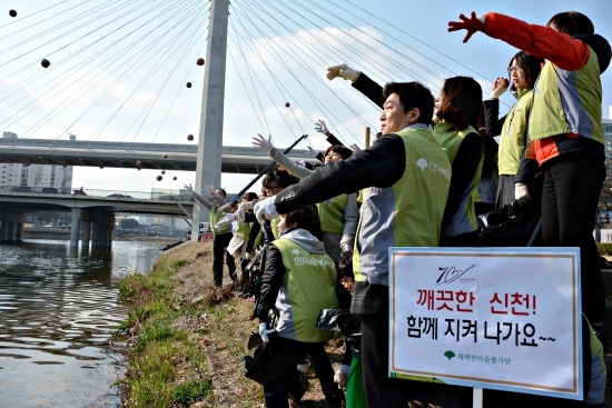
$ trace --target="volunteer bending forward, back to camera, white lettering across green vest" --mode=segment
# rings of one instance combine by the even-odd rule
[[[256,305],[259,334],[265,342],[274,341],[263,379],[267,408],[288,407],[292,375],[306,355],[312,358],[327,407],[343,406],[344,394],[334,382],[325,351],[333,334],[315,327],[320,309],[338,305],[336,267],[312,233],[316,218],[312,207],[282,216],[278,239],[268,247]],[[270,311],[278,314],[274,327],[268,327]]]

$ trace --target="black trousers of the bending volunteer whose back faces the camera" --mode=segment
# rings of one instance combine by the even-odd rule
[[[325,352],[324,342],[302,342],[277,337],[264,371],[264,395],[266,408],[287,408],[289,406],[289,384],[297,365],[304,356],[310,356],[315,374],[320,382],[328,406],[339,407],[344,392],[334,382],[334,369]]]

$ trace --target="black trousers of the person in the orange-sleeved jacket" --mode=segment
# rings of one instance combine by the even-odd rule
[[[542,240],[544,247],[579,247],[582,311],[591,324],[605,320],[605,293],[600,257],[593,238],[603,159],[564,155],[544,163]]]

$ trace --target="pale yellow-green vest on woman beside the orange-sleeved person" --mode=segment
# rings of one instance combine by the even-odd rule
[[[519,91],[519,100],[507,112],[500,135],[497,167],[500,175],[515,176],[527,142],[527,121],[533,107],[533,89]]]

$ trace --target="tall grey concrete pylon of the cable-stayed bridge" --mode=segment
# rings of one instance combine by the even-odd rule
[[[210,1],[210,22],[204,70],[196,186],[194,187],[200,195],[204,195],[206,186],[220,187],[221,182],[228,17],[229,0]],[[199,223],[208,220],[208,209],[196,202],[191,223],[193,241],[198,239]]]

